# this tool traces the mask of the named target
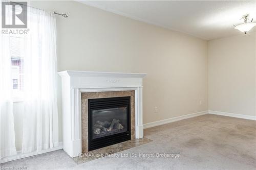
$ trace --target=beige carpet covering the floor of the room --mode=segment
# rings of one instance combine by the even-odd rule
[[[27,169],[256,169],[256,122],[218,115],[203,115],[146,129],[153,140],[113,157],[77,165],[64,151],[2,164]],[[156,157],[158,153],[165,156]],[[168,154],[179,157],[168,157]],[[132,157],[133,155],[139,155]],[[143,157],[152,154],[154,157]],[[121,157],[127,155],[128,157]]]

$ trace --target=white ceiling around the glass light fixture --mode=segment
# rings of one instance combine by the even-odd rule
[[[243,34],[233,28],[256,1],[80,1],[84,4],[206,40]],[[255,31],[254,28],[252,31]]]

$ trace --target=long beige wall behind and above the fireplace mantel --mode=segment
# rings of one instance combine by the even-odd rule
[[[207,41],[73,1],[31,5],[69,15],[57,16],[59,71],[148,74],[144,123],[207,110]]]

